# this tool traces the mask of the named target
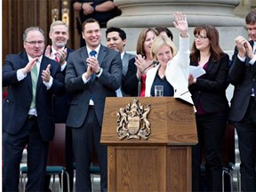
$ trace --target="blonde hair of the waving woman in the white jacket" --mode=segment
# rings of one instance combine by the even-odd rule
[[[157,60],[156,54],[164,45],[167,45],[171,48],[173,57],[177,54],[177,48],[168,36],[156,36],[150,50],[150,54],[153,60]]]

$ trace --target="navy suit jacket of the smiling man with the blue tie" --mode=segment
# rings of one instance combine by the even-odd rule
[[[119,52],[108,49],[101,44],[98,54],[100,68],[103,71],[100,77],[84,84],[82,75],[87,70],[86,58],[88,52],[82,47],[71,52],[68,57],[65,83],[68,92],[73,93],[73,100],[68,113],[67,125],[80,127],[87,115],[91,93],[95,112],[100,126],[102,125],[106,97],[116,97],[116,89],[122,81],[122,60]]]

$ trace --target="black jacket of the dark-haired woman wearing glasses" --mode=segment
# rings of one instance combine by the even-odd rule
[[[205,112],[217,112],[228,109],[226,89],[228,87],[228,54],[223,54],[220,60],[213,62],[210,58],[204,78],[197,78],[196,84],[189,86],[189,92],[195,106],[200,102]],[[190,61],[197,66],[197,62]]]

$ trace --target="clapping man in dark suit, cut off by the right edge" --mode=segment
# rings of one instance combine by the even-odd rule
[[[236,37],[228,76],[235,86],[229,119],[238,135],[242,190],[256,191],[256,10],[247,14],[245,22],[252,41]]]

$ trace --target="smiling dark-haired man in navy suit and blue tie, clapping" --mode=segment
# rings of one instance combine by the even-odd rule
[[[86,46],[68,57],[65,83],[73,100],[67,125],[72,127],[76,161],[76,191],[91,191],[90,164],[95,146],[100,161],[100,188],[108,189],[107,146],[100,144],[101,125],[106,97],[116,97],[122,81],[120,53],[100,44],[101,31],[97,20],[85,20],[83,37]]]

